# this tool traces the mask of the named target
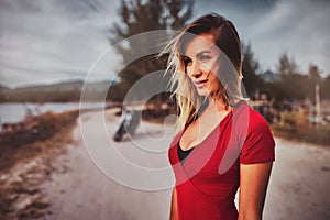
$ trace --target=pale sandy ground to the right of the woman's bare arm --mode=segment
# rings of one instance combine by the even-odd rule
[[[329,163],[329,146],[276,139],[265,219],[330,219]]]

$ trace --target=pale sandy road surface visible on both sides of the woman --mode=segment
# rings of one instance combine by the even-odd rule
[[[96,127],[101,118],[96,112],[84,114],[81,121],[85,123],[85,135],[81,134],[81,128],[77,127],[74,131],[76,145],[68,147],[66,154],[54,161],[55,166],[67,168],[66,172],[54,173],[52,179],[42,185],[45,200],[51,205],[42,219],[167,219],[170,189],[132,189],[110,179],[91,161],[90,155],[97,154],[88,154],[88,151],[94,151],[90,147],[109,147],[109,141],[101,138],[103,133]],[[113,117],[113,111],[108,111],[105,127],[110,139],[117,122],[118,118]],[[87,138],[86,133],[90,136]],[[145,133],[150,136],[144,136]],[[123,157],[141,166],[166,166],[166,153],[162,151],[168,147],[170,135],[157,141],[163,134],[163,128],[156,124],[143,125],[136,133],[138,145],[146,144],[145,140],[158,143],[154,147],[161,153],[153,160],[134,148],[130,141],[120,143],[118,150]],[[82,138],[88,142],[87,148]],[[330,148],[280,139],[276,139],[276,162],[268,187],[264,219],[329,219]],[[106,158],[107,155],[103,155],[103,160]],[[99,161],[101,164],[102,160]],[[103,172],[106,169],[107,167]],[[116,169],[129,173],[119,166]]]

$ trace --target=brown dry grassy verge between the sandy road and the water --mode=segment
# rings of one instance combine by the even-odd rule
[[[46,112],[8,125],[0,135],[0,219],[44,216],[41,184],[63,167],[52,165],[55,155],[73,143],[78,111]],[[58,172],[58,170],[57,170]]]

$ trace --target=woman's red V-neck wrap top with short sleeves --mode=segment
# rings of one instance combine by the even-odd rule
[[[265,119],[246,103],[232,109],[215,130],[180,163],[173,140],[168,156],[176,178],[180,220],[238,219],[234,198],[240,164],[275,160],[275,142]]]

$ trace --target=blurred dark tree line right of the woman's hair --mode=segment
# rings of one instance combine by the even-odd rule
[[[280,102],[284,100],[306,100],[316,101],[316,86],[320,87],[320,97],[330,99],[330,74],[326,78],[321,77],[319,67],[310,64],[306,73],[300,72],[294,57],[284,53],[277,63],[277,68],[273,74],[274,78],[267,81],[260,72],[258,62],[254,58],[251,45],[243,46],[243,82],[249,97],[253,97],[256,91],[264,92],[268,98]]]

